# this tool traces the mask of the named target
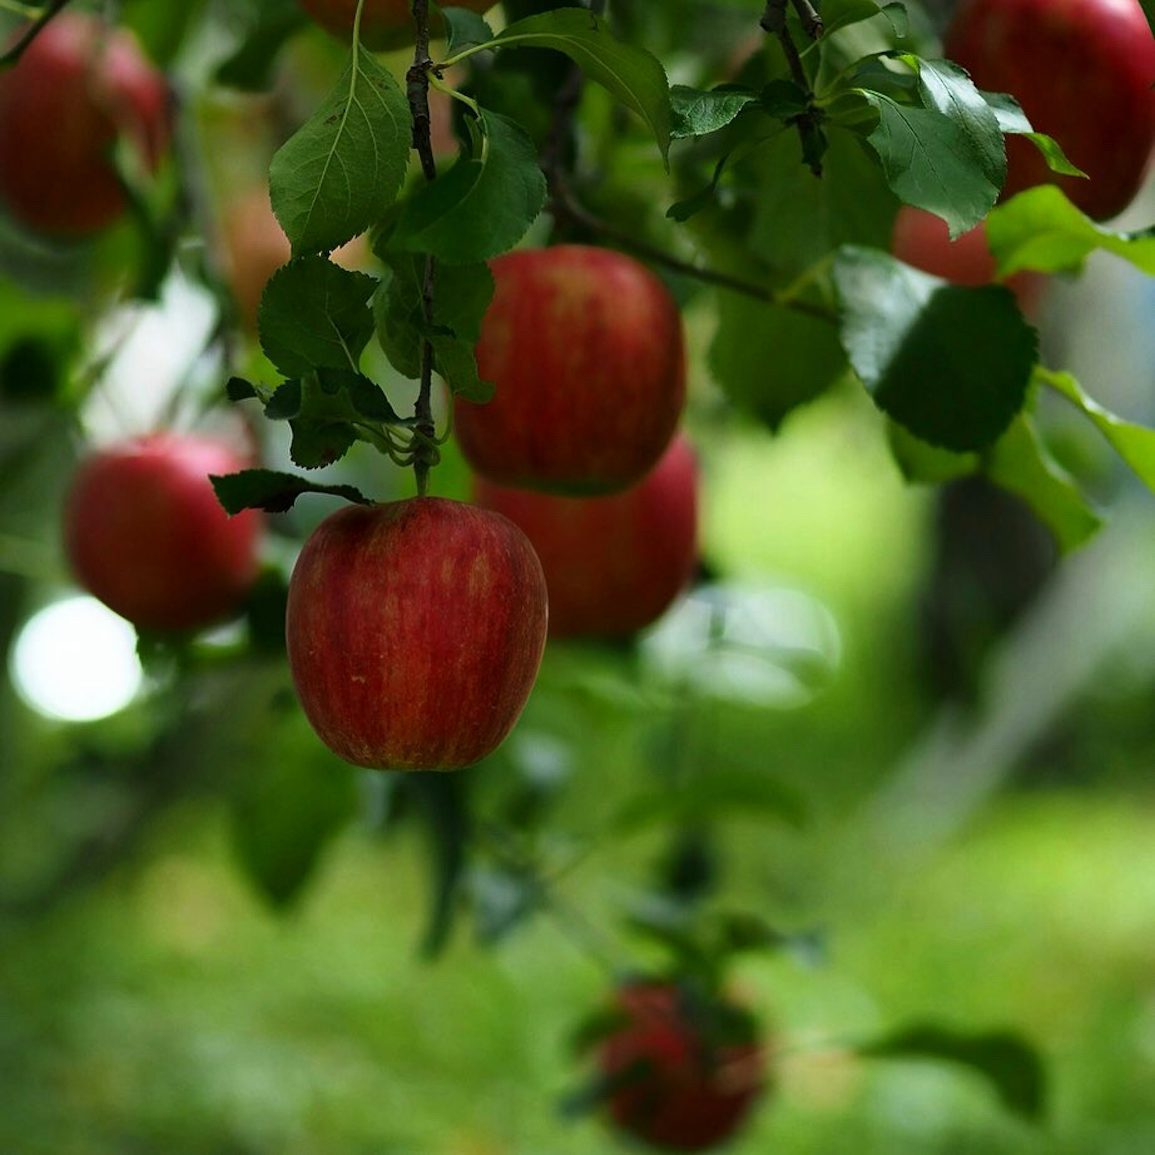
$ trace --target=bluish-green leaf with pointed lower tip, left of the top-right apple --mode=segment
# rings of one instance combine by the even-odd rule
[[[952,237],[974,229],[994,204],[999,186],[976,157],[966,128],[937,109],[900,104],[869,89],[856,91],[878,114],[866,141],[894,194],[942,217]]]

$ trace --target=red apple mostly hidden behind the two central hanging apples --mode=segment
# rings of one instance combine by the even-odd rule
[[[676,435],[636,485],[568,498],[474,479],[474,500],[505,514],[542,559],[550,636],[625,636],[656,621],[698,560],[698,463]]]

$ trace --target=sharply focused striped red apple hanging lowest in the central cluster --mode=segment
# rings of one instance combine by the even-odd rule
[[[545,647],[542,565],[516,526],[419,497],[330,514],[289,583],[305,715],[356,766],[452,770],[495,750]]]

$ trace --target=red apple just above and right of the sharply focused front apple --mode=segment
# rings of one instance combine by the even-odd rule
[[[587,245],[521,249],[491,268],[477,367],[497,393],[456,402],[465,459],[522,489],[610,493],[641,480],[686,395],[669,291],[632,256]]]

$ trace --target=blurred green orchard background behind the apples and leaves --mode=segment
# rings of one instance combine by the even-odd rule
[[[216,403],[260,355],[181,269],[239,260],[229,214],[340,59],[303,36],[271,95],[186,85],[206,229],[148,305],[110,307],[129,229],[79,259],[0,219],[0,1152],[604,1153],[564,1109],[575,1033],[718,911],[761,927],[728,975],[774,1071],[735,1153],[1155,1149],[1155,501],[1073,411],[1048,442],[1108,526],[1060,560],[984,483],[907,485],[860,389],[775,434],[735,412],[688,299],[699,579],[635,640],[551,642],[452,777],[346,767],[296,705],[284,583],[330,501],[275,519],[244,616],[192,641],[74,586],[92,445],[195,425],[288,462]],[[1148,189],[1120,226],[1152,219]],[[1152,423],[1153,318],[1095,259],[1046,289],[1044,362]],[[360,450],[335,480],[411,492]],[[452,446],[434,492],[468,495]],[[1014,1072],[863,1053],[915,1026],[1008,1033],[1041,1117]]]

